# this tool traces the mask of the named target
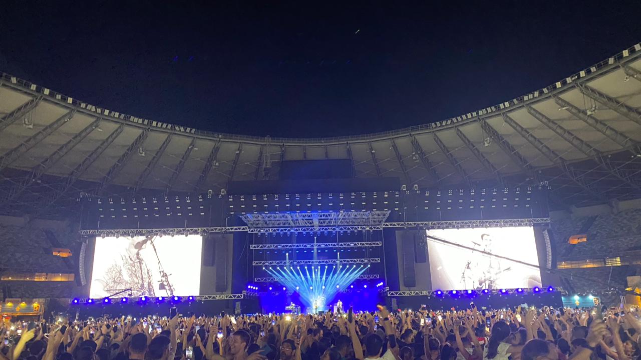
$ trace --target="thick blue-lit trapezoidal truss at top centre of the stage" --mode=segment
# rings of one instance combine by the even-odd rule
[[[267,213],[246,214],[242,220],[251,229],[274,227],[342,227],[342,226],[376,226],[381,225],[390,215],[390,211],[339,211],[318,213]]]

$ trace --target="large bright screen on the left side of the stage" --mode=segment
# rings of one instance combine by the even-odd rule
[[[129,288],[134,296],[167,296],[168,285],[174,295],[199,295],[202,246],[200,235],[96,238],[89,296]]]

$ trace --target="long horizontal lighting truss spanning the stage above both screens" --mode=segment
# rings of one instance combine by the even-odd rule
[[[344,214],[371,213],[374,211],[349,212]],[[389,211],[379,211],[388,213]],[[302,215],[303,213],[301,213]],[[313,213],[305,213],[312,215]],[[340,213],[333,213],[340,214]],[[250,214],[269,215],[269,214]],[[276,214],[283,215],[283,214]],[[215,226],[215,227],[172,227],[160,229],[82,229],[81,235],[94,236],[145,236],[145,235],[183,235],[208,233],[301,233],[319,231],[366,231],[382,230],[385,227],[399,228],[424,228],[424,229],[461,229],[467,227],[510,227],[510,226],[531,226],[537,224],[549,224],[550,218],[519,218],[501,220],[452,220],[452,221],[406,221],[406,222],[382,222],[377,225],[331,225],[331,226],[308,226],[296,227],[287,224],[283,227],[252,228],[249,226]]]

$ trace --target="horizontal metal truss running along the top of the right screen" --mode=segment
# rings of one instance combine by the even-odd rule
[[[383,227],[422,227],[427,229],[458,229],[460,227],[508,227],[549,224],[550,218],[517,218],[500,220],[451,220],[386,222]]]

